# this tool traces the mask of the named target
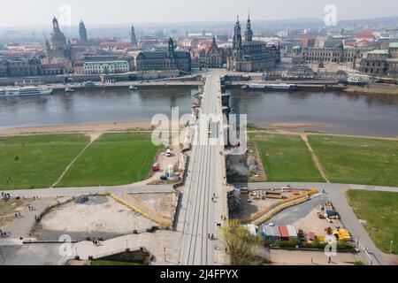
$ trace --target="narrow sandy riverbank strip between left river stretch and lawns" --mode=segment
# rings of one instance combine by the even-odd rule
[[[149,131],[151,127],[149,120],[82,125],[23,126],[0,130],[0,135],[104,133],[130,130]]]

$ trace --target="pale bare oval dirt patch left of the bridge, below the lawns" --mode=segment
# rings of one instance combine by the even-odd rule
[[[57,240],[62,234],[73,239],[89,237],[112,237],[144,231],[154,226],[125,205],[109,196],[89,196],[86,202],[65,203],[43,216],[34,231],[34,236],[42,240]]]

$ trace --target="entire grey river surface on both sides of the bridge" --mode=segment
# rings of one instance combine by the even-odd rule
[[[194,88],[76,91],[52,96],[0,99],[0,128],[150,120],[157,113],[189,113]],[[398,136],[398,96],[339,92],[228,90],[234,113],[248,114],[256,126],[294,123],[297,131]],[[305,125],[305,126],[303,126]]]

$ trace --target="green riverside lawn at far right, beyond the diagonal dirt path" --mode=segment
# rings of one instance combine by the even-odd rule
[[[398,142],[309,135],[331,182],[398,186]]]

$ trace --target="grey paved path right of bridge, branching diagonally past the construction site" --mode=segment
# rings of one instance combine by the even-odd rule
[[[235,184],[235,187],[249,187],[250,189],[267,189],[275,187],[286,186],[287,183],[281,182],[264,182],[264,183],[241,183]],[[289,183],[291,187],[298,188],[318,188],[318,190],[325,190],[329,199],[332,201],[336,210],[338,210],[341,221],[344,226],[351,233],[355,241],[359,241],[361,256],[364,261],[371,264],[389,264],[390,256],[382,253],[371,241],[371,237],[364,229],[364,226],[356,218],[354,210],[349,206],[346,198],[346,192],[348,189],[363,189],[363,190],[376,190],[385,192],[396,192],[398,193],[398,187],[378,187],[378,186],[362,186],[362,185],[350,185],[350,184],[326,184],[326,183]],[[368,249],[369,253],[366,255],[364,248]]]

